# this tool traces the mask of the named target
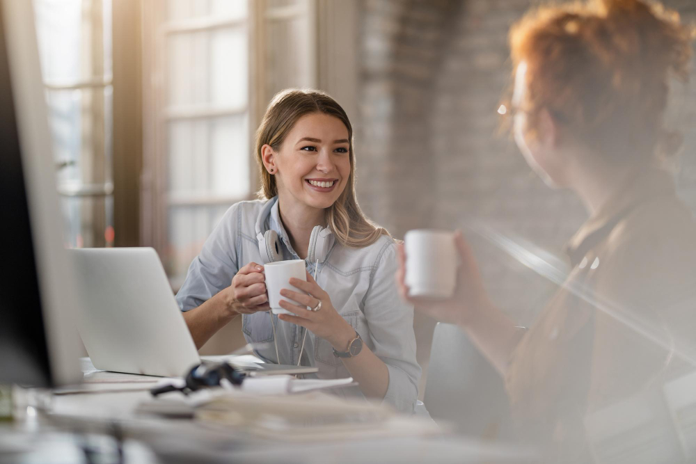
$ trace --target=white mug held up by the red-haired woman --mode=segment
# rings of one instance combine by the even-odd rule
[[[452,296],[459,265],[454,232],[409,230],[404,241],[409,296],[434,299]]]

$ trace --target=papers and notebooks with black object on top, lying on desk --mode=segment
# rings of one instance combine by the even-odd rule
[[[442,433],[432,420],[404,419],[382,403],[325,392],[357,385],[350,377],[253,377],[228,362],[198,365],[183,378],[157,379],[92,370],[86,376],[95,383],[87,383],[82,393],[99,392],[100,387],[106,389],[104,392],[148,390],[152,397],[137,404],[136,415],[187,418],[206,427],[258,438],[296,442]],[[113,385],[116,387],[112,390]],[[65,390],[58,393],[65,394]]]

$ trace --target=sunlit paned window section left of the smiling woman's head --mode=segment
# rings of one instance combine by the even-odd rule
[[[251,192],[248,2],[145,8],[143,244],[177,280],[228,207]]]

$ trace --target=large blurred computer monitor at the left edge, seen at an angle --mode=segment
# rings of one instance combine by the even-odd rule
[[[0,0],[0,383],[81,379],[31,1]]]

